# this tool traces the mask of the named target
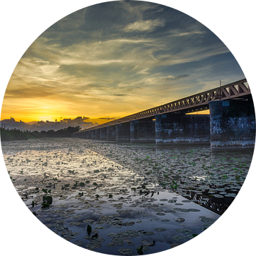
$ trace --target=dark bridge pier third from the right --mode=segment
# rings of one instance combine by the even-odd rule
[[[130,121],[131,142],[156,142],[155,121],[152,119]]]

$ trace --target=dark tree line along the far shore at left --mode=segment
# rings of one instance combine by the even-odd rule
[[[78,132],[81,127],[68,127],[64,129],[58,129],[54,131],[50,129],[48,131],[21,131],[20,129],[6,129],[5,127],[0,128],[0,142],[6,142],[11,140],[21,140],[21,139],[36,139],[44,137],[71,137],[73,132]]]

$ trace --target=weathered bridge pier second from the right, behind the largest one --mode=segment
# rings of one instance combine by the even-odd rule
[[[156,144],[210,142],[208,114],[156,114]]]

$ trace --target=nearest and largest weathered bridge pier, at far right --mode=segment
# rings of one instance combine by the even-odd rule
[[[210,146],[255,146],[255,105],[248,100],[209,102]]]

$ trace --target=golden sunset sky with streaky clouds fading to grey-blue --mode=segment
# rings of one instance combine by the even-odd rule
[[[45,129],[90,127],[245,78],[210,28],[139,0],[61,18],[28,45],[10,75],[0,119],[43,121]]]

